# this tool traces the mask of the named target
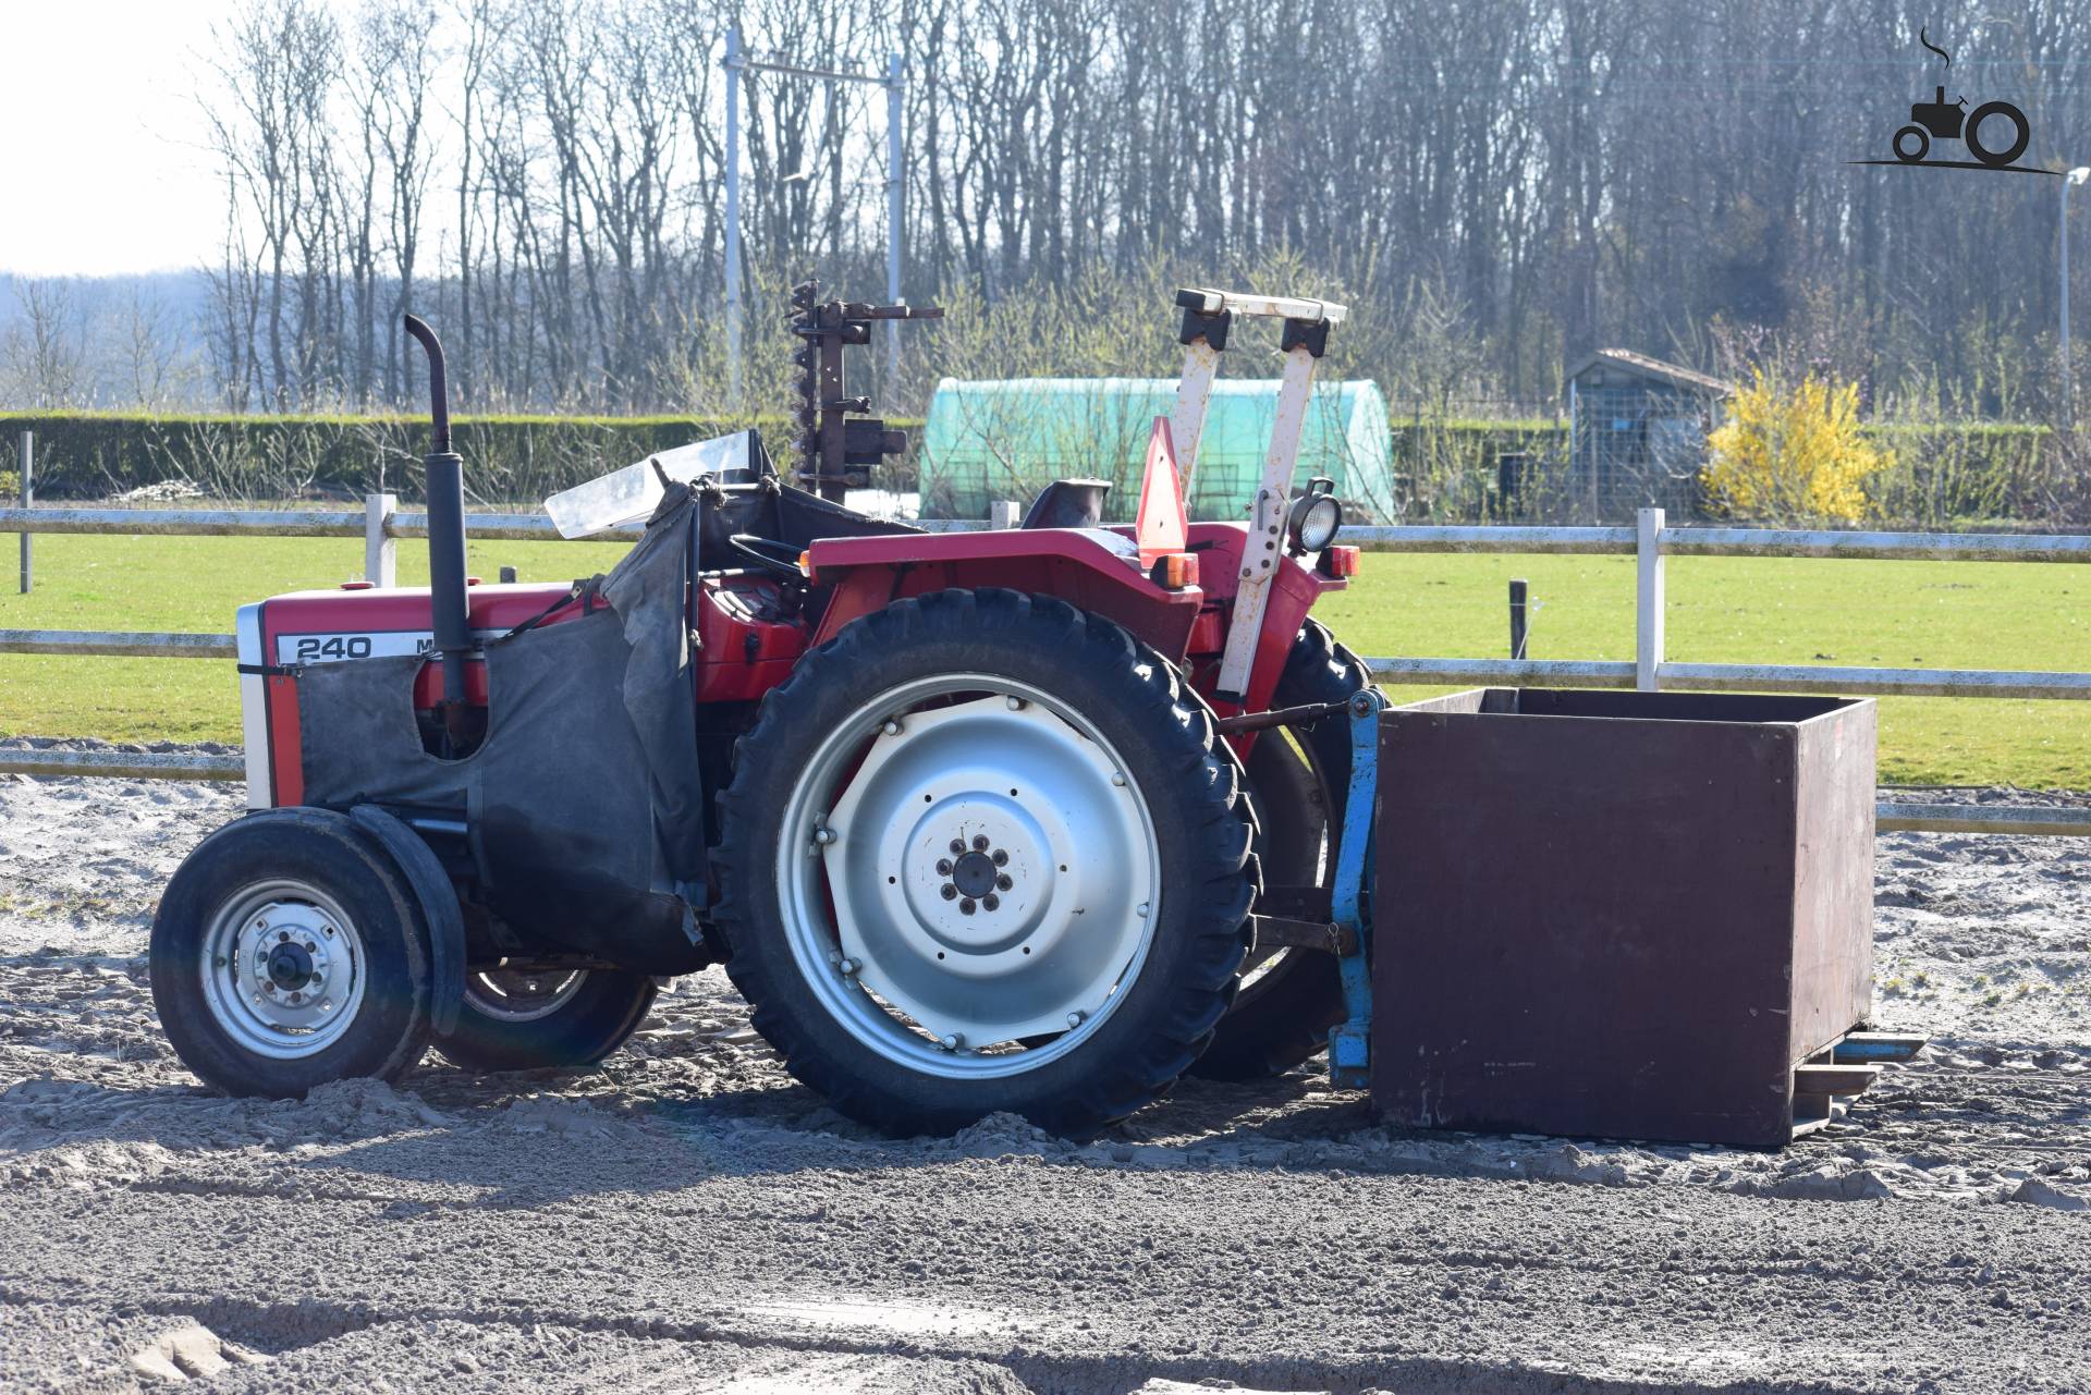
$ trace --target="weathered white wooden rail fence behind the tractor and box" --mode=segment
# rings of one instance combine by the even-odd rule
[[[933,531],[1008,527],[924,523]],[[544,514],[468,514],[473,538],[558,540]],[[625,529],[638,533],[638,525]],[[389,494],[360,510],[276,508],[0,508],[0,533],[163,533],[188,538],[362,538],[364,575],[393,584],[395,542],[427,538],[429,519],[401,512]],[[2091,535],[1869,533],[1840,529],[1669,527],[1644,508],[1635,527],[1347,527],[1342,542],[1368,552],[1623,554],[1635,558],[1635,657],[1424,659],[1370,657],[1382,684],[1503,684],[1526,688],[1639,688],[1692,692],[1834,692],[1842,696],[2087,699],[2091,673],[2041,669],[1871,669],[1784,663],[1675,663],[1662,648],[1664,561],[1671,556],[1813,556],[1888,561],[2091,563]],[[232,659],[230,634],[132,634],[96,630],[0,630],[0,655],[132,655]],[[138,755],[121,751],[0,751],[0,774],[102,774],[171,780],[238,780],[236,755]],[[2091,807],[2001,807],[1886,801],[1882,830],[2091,832]]]

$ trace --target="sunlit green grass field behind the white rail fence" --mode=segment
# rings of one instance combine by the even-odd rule
[[[569,579],[606,571],[621,550],[477,542],[470,567]],[[38,538],[36,594],[8,584],[0,630],[226,632],[243,600],[360,567],[355,540]],[[424,575],[418,544],[401,542],[399,573]],[[1319,613],[1365,655],[1501,657],[1510,577],[1526,577],[1541,607],[1535,659],[1633,657],[1625,556],[1365,556],[1361,584]],[[2091,669],[2091,571],[2076,567],[1671,558],[1669,590],[1675,661]],[[0,655],[0,734],[236,742],[232,671],[201,659]],[[1884,780],[2091,788],[2091,705],[1886,699],[1880,747]]]

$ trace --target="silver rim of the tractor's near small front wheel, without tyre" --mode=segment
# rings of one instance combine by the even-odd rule
[[[355,922],[318,887],[278,878],[228,897],[203,935],[203,1002],[240,1050],[270,1060],[324,1052],[364,1006]]]

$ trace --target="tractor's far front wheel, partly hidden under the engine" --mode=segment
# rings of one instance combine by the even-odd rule
[[[473,968],[435,1050],[466,1071],[592,1067],[640,1029],[654,981],[623,968]]]

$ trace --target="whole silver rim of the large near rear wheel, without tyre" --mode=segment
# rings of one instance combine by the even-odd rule
[[[776,857],[786,941],[853,1039],[995,1079],[1075,1050],[1161,916],[1146,799],[1081,713],[947,673],[864,703],[807,761]]]

